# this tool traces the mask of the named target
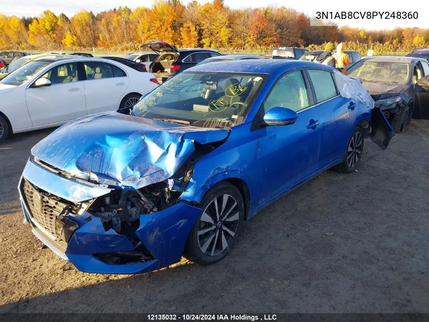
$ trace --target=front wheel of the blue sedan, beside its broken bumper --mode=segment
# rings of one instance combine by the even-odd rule
[[[216,220],[214,202],[217,202],[219,220]],[[240,191],[234,185],[221,182],[207,191],[200,207],[204,212],[189,232],[184,256],[196,264],[210,265],[225,257],[240,236],[244,220],[244,202]]]

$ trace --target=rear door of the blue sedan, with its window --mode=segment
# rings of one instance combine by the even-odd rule
[[[356,119],[357,102],[340,96],[332,72],[308,69],[311,89],[320,115],[321,149],[319,167],[344,157]]]

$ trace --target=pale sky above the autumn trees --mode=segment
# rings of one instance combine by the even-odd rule
[[[186,5],[191,0],[181,0]],[[198,0],[206,3],[207,0]],[[71,17],[80,10],[88,10],[94,13],[112,9],[119,6],[128,6],[131,9],[145,6],[150,7],[152,0],[0,0],[0,13],[16,16],[38,16],[43,10],[49,9],[55,14],[64,13]],[[234,9],[247,7],[260,7],[261,5],[285,6],[304,12],[310,16],[317,11],[417,11],[418,19],[358,19],[358,20],[334,20],[338,25],[351,27],[365,27],[369,30],[393,29],[394,27],[422,27],[429,28],[429,13],[427,12],[427,0],[225,0],[226,6]],[[341,4],[341,6],[339,6]],[[412,4],[412,6],[410,5]]]

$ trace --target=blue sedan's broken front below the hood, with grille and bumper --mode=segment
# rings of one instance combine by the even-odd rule
[[[90,188],[27,162],[19,184],[25,220],[56,254],[90,273],[145,273],[180,260],[202,210],[178,200],[177,187]]]

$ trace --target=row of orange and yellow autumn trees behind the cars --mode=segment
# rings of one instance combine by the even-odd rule
[[[0,14],[0,49],[139,50],[152,39],[177,47],[211,47],[223,51],[267,52],[277,46],[319,49],[346,42],[365,54],[429,47],[429,29],[395,28],[367,31],[337,25],[310,26],[310,17],[294,9],[231,9],[223,0],[184,6],[179,0],[157,0],[152,7],[119,7],[73,17],[49,10],[39,17]]]

